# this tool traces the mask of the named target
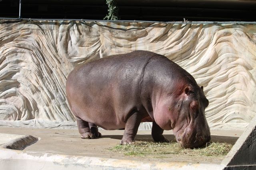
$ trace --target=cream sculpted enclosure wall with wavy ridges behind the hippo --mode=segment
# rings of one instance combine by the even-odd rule
[[[1,20],[0,125],[73,127],[70,71],[134,50],[165,55],[204,86],[211,129],[243,129],[256,115],[256,25]]]

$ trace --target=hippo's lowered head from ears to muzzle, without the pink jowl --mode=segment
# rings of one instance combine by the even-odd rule
[[[196,148],[210,141],[210,128],[204,110],[209,105],[203,87],[185,87],[175,106],[178,110],[173,132],[184,148]]]

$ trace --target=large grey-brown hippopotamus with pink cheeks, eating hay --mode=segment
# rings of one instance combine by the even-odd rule
[[[152,122],[152,138],[168,142],[173,130],[184,148],[210,140],[203,87],[178,64],[150,51],[88,61],[74,68],[66,95],[82,138],[101,136],[98,127],[123,129],[120,144],[134,142],[141,122]]]

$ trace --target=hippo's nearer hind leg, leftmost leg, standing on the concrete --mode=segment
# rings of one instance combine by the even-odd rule
[[[91,132],[89,123],[76,116],[79,133],[83,139],[94,139],[95,135]]]

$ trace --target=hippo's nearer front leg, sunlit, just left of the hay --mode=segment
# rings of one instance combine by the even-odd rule
[[[133,113],[128,118],[125,124],[124,135],[120,144],[131,144],[132,142],[134,142],[135,136],[140,126],[141,119],[142,117],[139,112]]]

